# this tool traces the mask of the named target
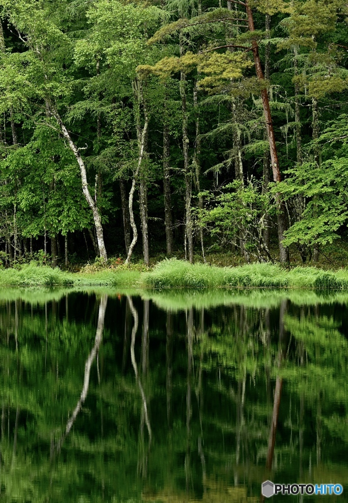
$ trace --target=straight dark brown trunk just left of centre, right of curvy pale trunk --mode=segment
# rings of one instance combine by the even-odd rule
[[[164,224],[166,228],[167,255],[173,253],[173,216],[170,191],[170,141],[168,111],[164,102],[165,121],[163,125],[163,195],[164,195]]]

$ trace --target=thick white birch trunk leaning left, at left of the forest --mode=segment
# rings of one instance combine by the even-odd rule
[[[104,262],[106,262],[107,261],[107,254],[106,254],[106,248],[105,248],[105,243],[104,243],[103,226],[102,226],[98,207],[95,204],[95,202],[90,194],[89,188],[88,188],[86,166],[85,166],[83,158],[81,157],[80,149],[77,148],[74,141],[72,140],[72,137],[71,137],[70,133],[68,132],[68,130],[66,129],[65,125],[63,124],[63,122],[60,118],[60,115],[58,114],[58,111],[56,110],[55,106],[50,104],[50,110],[59,125],[59,128],[62,132],[62,135],[64,136],[65,140],[67,141],[69,148],[74,153],[75,158],[79,164],[81,181],[82,181],[82,191],[83,191],[84,196],[86,198],[86,201],[87,201],[87,203],[93,213],[93,220],[94,220],[94,225],[95,225],[95,229],[96,229],[96,233],[97,233],[100,258],[103,259]]]

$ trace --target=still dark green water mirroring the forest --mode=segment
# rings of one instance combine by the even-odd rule
[[[256,503],[267,479],[347,501],[347,306],[2,290],[0,501]]]

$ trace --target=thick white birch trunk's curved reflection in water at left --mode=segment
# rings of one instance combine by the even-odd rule
[[[69,417],[69,419],[66,423],[65,432],[63,433],[63,435],[61,436],[61,438],[59,439],[59,441],[57,443],[57,448],[56,448],[57,452],[60,451],[65,438],[67,437],[67,435],[71,431],[71,429],[76,421],[76,418],[81,410],[81,407],[85,403],[85,400],[87,397],[88,388],[89,388],[89,384],[90,384],[91,366],[92,366],[92,363],[94,362],[96,355],[99,351],[99,346],[100,346],[100,343],[101,343],[102,337],[103,337],[104,319],[105,319],[107,300],[108,300],[107,295],[103,295],[100,300],[96,338],[95,338],[93,349],[92,349],[91,353],[89,354],[87,361],[86,361],[86,364],[85,364],[84,384],[82,387],[81,395],[80,395],[78,403],[77,403],[71,417]]]

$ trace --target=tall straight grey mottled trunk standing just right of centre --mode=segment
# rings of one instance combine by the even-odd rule
[[[180,43],[180,55],[184,53],[182,44]],[[191,215],[191,194],[192,194],[192,173],[189,163],[189,139],[187,134],[187,106],[186,106],[186,90],[185,90],[186,74],[180,72],[180,97],[182,110],[182,150],[184,154],[184,177],[185,177],[185,230],[188,244],[188,260],[193,264],[193,231],[192,231],[192,215]]]

